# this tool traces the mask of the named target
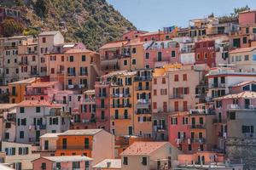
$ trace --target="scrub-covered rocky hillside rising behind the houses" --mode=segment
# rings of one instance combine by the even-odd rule
[[[0,0],[0,4],[19,8],[26,27],[59,30],[67,42],[84,42],[94,50],[135,29],[105,0]]]

